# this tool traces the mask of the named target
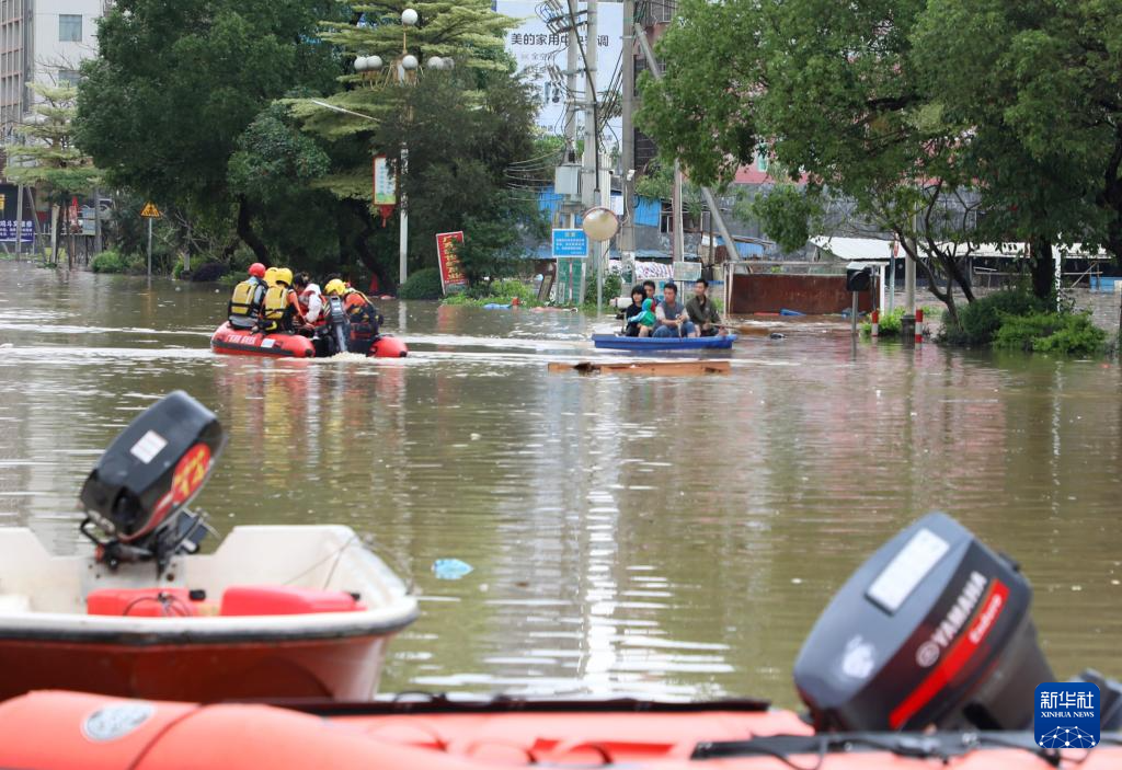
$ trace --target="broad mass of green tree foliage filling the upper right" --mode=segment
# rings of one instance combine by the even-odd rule
[[[730,180],[765,146],[798,169],[792,180],[807,175],[810,196],[852,200],[917,259],[954,321],[980,241],[1028,240],[1050,257],[1109,225],[1120,2],[684,0],[640,120],[700,183]],[[772,213],[797,230],[797,208]],[[1050,290],[1047,257],[1038,293]]]

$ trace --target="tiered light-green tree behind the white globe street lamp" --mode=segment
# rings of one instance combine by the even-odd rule
[[[324,25],[324,39],[350,62],[380,56],[383,71],[339,77],[327,103],[293,100],[304,129],[329,146],[331,173],[316,186],[337,196],[368,224],[364,263],[384,279],[396,263],[397,217],[380,226],[371,212],[370,163],[381,152],[399,166],[408,148],[402,191],[410,205],[410,269],[435,263],[435,234],[465,230],[462,249],[469,278],[496,273],[521,251],[524,233],[540,232],[534,201],[507,185],[507,170],[534,157],[536,104],[514,73],[503,33],[514,20],[491,11],[487,0],[411,3],[420,15],[403,28],[398,3],[368,3],[348,24]],[[398,80],[395,58],[407,50],[422,63],[408,83]],[[450,58],[452,69],[425,66],[432,56]],[[346,110],[347,112],[339,112]]]

